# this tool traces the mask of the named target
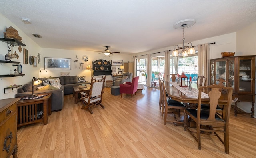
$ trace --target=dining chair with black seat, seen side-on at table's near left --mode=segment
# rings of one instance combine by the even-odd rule
[[[160,82],[161,82],[160,90],[162,91],[162,94],[165,94],[164,81],[161,79]],[[166,122],[173,122],[174,124],[184,124],[184,122],[178,121],[176,119],[176,114],[180,114],[179,111],[181,110],[184,112],[186,106],[182,102],[178,102],[172,99],[167,99],[166,96],[164,95],[162,95],[162,100],[163,100],[162,112],[164,110],[164,124],[166,124]],[[170,119],[167,120],[167,115],[170,113],[173,114],[174,120],[170,120]],[[184,127],[184,130],[186,130],[185,127]]]

